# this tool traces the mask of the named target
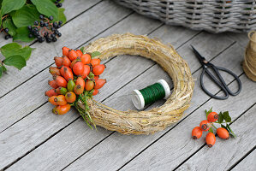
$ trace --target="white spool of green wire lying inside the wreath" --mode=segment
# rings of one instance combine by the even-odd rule
[[[132,101],[137,109],[143,109],[147,104],[154,103],[159,99],[170,97],[170,86],[161,79],[153,85],[148,85],[141,90],[134,90]]]

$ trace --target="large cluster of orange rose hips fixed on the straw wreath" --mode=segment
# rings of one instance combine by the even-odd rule
[[[49,102],[56,106],[52,109],[54,114],[67,113],[80,96],[95,96],[106,83],[106,80],[99,79],[105,65],[100,64],[100,59],[83,54],[81,50],[63,47],[63,56],[56,56],[54,60],[57,67],[49,68],[53,80],[48,81],[52,89],[45,91]]]

